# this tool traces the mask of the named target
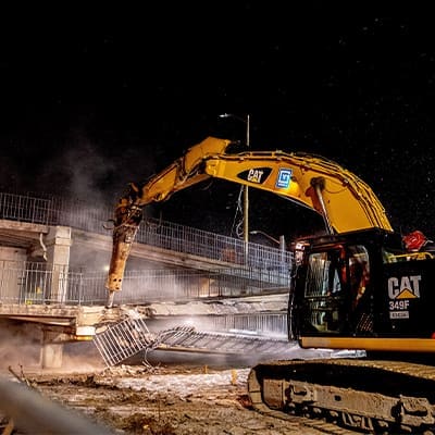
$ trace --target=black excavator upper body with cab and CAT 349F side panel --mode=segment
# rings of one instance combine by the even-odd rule
[[[398,235],[378,228],[296,246],[290,339],[302,347],[435,351],[432,254],[407,252]]]

